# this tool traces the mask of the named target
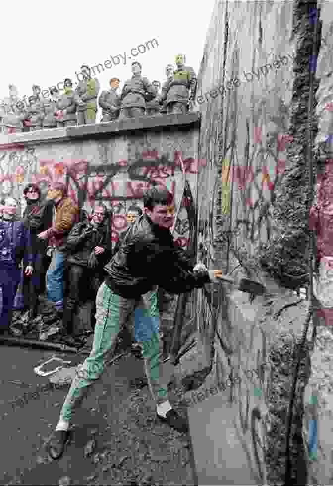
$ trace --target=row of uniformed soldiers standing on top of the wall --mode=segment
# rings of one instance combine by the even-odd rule
[[[41,95],[41,88],[33,85],[32,95],[22,100],[12,97],[9,108],[1,120],[4,133],[33,131],[45,128],[96,123],[98,108],[102,108],[102,122],[136,116],[156,116],[164,113],[186,113],[195,100],[197,78],[194,70],[185,66],[185,56],[175,58],[177,68],[166,66],[166,82],[152,83],[141,75],[142,66],[133,62],[132,77],[127,80],[119,95],[120,80],[112,78],[110,89],[100,93],[100,83],[91,75],[89,66],[81,66],[83,80],[73,89],[72,80],[66,78],[62,93],[54,86],[49,99]],[[161,90],[161,91],[160,91]]]

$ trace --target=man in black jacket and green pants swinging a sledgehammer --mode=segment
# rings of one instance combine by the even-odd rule
[[[172,408],[167,383],[170,362],[160,367],[159,310],[156,287],[177,294],[219,282],[222,270],[196,271],[191,259],[173,241],[174,199],[166,189],[144,194],[144,215],[130,228],[119,251],[105,266],[106,278],[96,297],[96,327],[90,356],[77,367],[60,412],[60,420],[48,444],[52,459],[59,459],[70,439],[72,415],[87,397],[89,387],[101,377],[107,356],[113,353],[124,325],[135,322],[135,335],[142,342],[149,390],[157,418],[178,432],[188,425]]]

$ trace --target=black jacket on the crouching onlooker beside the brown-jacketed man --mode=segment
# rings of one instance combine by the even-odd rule
[[[104,253],[97,255],[99,267],[108,262],[112,256],[111,234],[108,221],[94,227],[89,221],[77,223],[71,229],[66,241],[67,262],[88,267],[88,259],[95,246],[104,248]]]

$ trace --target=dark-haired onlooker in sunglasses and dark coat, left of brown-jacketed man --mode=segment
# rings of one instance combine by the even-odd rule
[[[37,316],[38,297],[45,291],[46,271],[50,265],[47,256],[47,241],[41,240],[37,234],[45,231],[52,224],[52,201],[41,201],[41,191],[37,184],[28,184],[23,194],[27,206],[23,212],[22,221],[30,230],[32,253],[34,255],[34,272],[30,278],[24,280],[25,307],[29,307],[29,317]]]

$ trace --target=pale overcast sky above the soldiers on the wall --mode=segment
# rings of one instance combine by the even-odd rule
[[[111,77],[120,79],[121,90],[132,75],[133,60],[142,64],[143,76],[163,83],[166,64],[175,65],[174,57],[179,52],[186,54],[186,64],[198,74],[214,3],[215,0],[198,4],[188,0],[3,2],[0,99],[8,96],[9,83],[16,85],[20,98],[32,94],[32,84],[44,90],[66,77],[72,79],[75,87],[75,71],[79,72],[82,64],[104,65],[106,60],[110,61],[106,63],[108,68],[104,67],[104,72],[100,68],[100,74],[96,71],[101,90],[109,88]],[[137,56],[130,54],[131,48],[152,39],[157,40],[157,47]],[[120,64],[114,66],[110,56],[124,57],[124,52],[126,65],[119,58]]]

